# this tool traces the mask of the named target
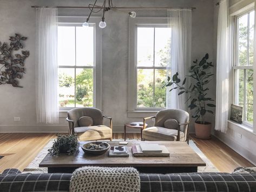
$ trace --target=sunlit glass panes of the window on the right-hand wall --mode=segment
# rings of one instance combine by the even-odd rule
[[[238,66],[253,65],[253,36],[254,13],[250,12],[238,18]],[[244,108],[244,120],[253,123],[253,69],[237,69],[236,72],[237,104]]]

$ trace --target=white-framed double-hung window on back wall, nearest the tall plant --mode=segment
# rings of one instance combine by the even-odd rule
[[[130,20],[129,111],[166,107],[167,62],[171,29],[165,18]]]

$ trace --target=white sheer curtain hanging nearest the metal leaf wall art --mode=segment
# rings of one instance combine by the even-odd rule
[[[58,10],[36,9],[36,116],[38,123],[58,123]]]

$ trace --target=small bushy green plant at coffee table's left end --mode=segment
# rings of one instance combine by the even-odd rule
[[[80,143],[76,135],[57,135],[56,140],[50,149],[48,149],[50,155],[55,156],[60,153],[68,153],[68,155],[74,155],[79,151]]]

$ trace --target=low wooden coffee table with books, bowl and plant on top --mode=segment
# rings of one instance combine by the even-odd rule
[[[139,143],[158,143],[165,145],[169,150],[169,157],[134,157],[131,146]],[[81,145],[86,142],[81,142]],[[111,146],[119,145],[119,142],[107,142]],[[47,167],[48,173],[72,173],[76,168],[83,166],[100,167],[134,167],[141,173],[191,173],[197,172],[198,166],[205,166],[205,162],[189,147],[186,142],[177,141],[132,141],[128,142],[129,157],[109,157],[108,151],[102,155],[84,154],[44,157],[39,167]]]

